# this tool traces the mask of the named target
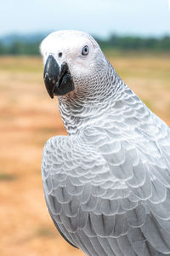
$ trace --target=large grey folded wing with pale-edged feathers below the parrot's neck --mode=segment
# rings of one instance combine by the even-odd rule
[[[42,179],[54,224],[89,256],[170,254],[168,143],[142,142],[138,130],[127,134],[128,143],[123,136],[111,140],[113,134],[120,131],[105,135],[92,127],[78,140],[54,137],[46,144]]]

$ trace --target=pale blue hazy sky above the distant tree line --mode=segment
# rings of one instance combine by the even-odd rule
[[[105,37],[170,34],[170,0],[2,0],[0,36],[77,29]]]

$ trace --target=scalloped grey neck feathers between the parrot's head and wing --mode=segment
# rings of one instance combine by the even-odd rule
[[[105,91],[98,96],[77,96],[74,91],[70,95],[59,96],[59,112],[69,135],[76,134],[85,126],[93,125],[97,120],[105,118],[111,107],[122,99],[127,85],[114,72],[114,80],[109,80]]]

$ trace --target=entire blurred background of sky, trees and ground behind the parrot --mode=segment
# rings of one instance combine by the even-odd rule
[[[91,33],[123,81],[170,125],[168,0],[0,3],[0,255],[83,255],[55,230],[42,192],[42,148],[66,134],[42,80],[49,32]]]

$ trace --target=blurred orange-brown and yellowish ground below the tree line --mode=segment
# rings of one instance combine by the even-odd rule
[[[170,125],[168,55],[112,56],[117,73]],[[0,58],[0,255],[81,256],[59,236],[42,192],[42,148],[66,134],[39,57]]]

